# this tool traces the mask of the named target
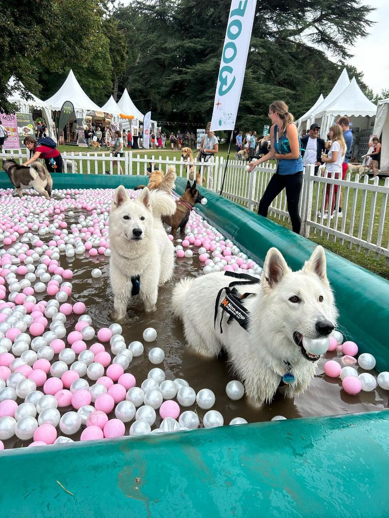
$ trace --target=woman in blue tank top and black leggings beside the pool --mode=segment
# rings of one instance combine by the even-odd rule
[[[276,173],[271,177],[260,200],[258,214],[267,218],[269,205],[285,189],[287,210],[291,217],[293,231],[300,233],[301,219],[298,211],[302,187],[302,158],[300,140],[292,113],[282,100],[277,100],[269,107],[270,151],[261,159],[249,164],[250,171],[258,164],[268,160],[278,160]]]

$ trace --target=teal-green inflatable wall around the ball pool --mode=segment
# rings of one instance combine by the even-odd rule
[[[145,180],[53,177],[58,189],[133,188]],[[10,186],[5,180],[0,187]],[[181,193],[186,180],[176,184]],[[201,193],[208,199],[201,213],[258,263],[276,246],[296,269],[315,247],[206,189]],[[340,322],[353,330],[348,337],[387,370],[388,282],[336,254],[326,256]],[[7,450],[0,453],[0,509],[29,517],[381,517],[389,505],[388,425],[389,413],[379,411]]]

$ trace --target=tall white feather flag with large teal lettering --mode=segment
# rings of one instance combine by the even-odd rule
[[[256,0],[232,0],[213,105],[211,131],[234,130]]]

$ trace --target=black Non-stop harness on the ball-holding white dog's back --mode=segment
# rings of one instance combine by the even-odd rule
[[[244,286],[247,284],[259,284],[261,281],[257,277],[252,277],[248,274],[236,274],[234,271],[226,271],[224,273],[227,277],[234,277],[235,279],[239,279],[237,281],[230,282],[228,286],[225,286],[221,290],[216,297],[215,301],[215,312],[213,324],[216,329],[216,319],[218,317],[219,305],[222,308],[222,316],[220,319],[220,334],[223,333],[222,322],[224,317],[224,312],[229,314],[229,318],[227,320],[227,324],[230,324],[233,320],[236,320],[238,324],[243,327],[244,330],[247,331],[249,326],[249,317],[250,313],[246,307],[243,306],[241,300],[249,297],[250,295],[255,295],[255,293],[243,293],[240,295],[236,287],[234,286]],[[225,291],[225,297],[220,304],[220,297],[222,292]]]

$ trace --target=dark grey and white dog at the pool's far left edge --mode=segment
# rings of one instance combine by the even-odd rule
[[[33,187],[46,199],[50,199],[53,179],[46,167],[40,162],[34,162],[31,167],[26,167],[17,164],[15,160],[3,160],[3,169],[20,197],[22,197],[23,189]]]

